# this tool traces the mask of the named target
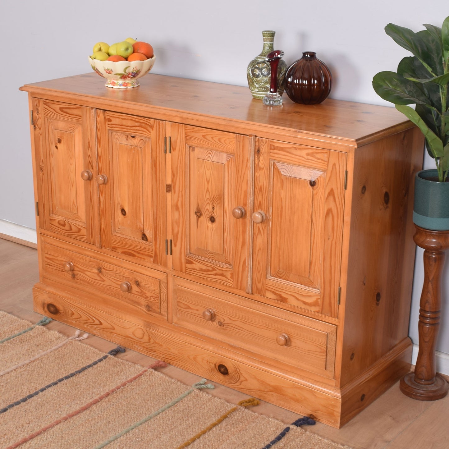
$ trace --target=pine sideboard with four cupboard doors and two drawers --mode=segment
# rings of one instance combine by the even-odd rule
[[[394,108],[153,73],[21,90],[37,312],[334,427],[409,371],[423,136]]]

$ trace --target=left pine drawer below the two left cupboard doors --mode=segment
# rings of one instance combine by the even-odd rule
[[[119,299],[117,307],[134,308],[136,313],[166,315],[167,275],[156,270],[112,262],[53,246],[46,242],[43,248],[44,279],[65,281],[81,290]],[[120,265],[119,265],[120,264]],[[112,305],[112,304],[111,304]]]

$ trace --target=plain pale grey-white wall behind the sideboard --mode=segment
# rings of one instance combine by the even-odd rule
[[[154,73],[247,85],[248,62],[262,49],[262,30],[275,30],[275,48],[287,64],[316,51],[334,75],[330,97],[391,106],[371,86],[380,70],[396,70],[407,52],[389,38],[388,22],[415,31],[440,26],[447,0],[227,0],[4,2],[0,12],[0,220],[35,228],[26,83],[90,71],[87,57],[97,41],[127,37],[153,44]],[[427,4],[426,4],[427,5]],[[443,15],[441,15],[443,12]],[[248,92],[249,95],[249,92]],[[426,165],[433,161],[426,158]],[[449,255],[448,255],[449,258]],[[418,343],[422,287],[418,251],[410,336]],[[444,296],[449,299],[449,262]],[[437,349],[449,353],[446,302]]]

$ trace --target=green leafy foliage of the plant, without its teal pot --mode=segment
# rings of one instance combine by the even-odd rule
[[[417,33],[392,23],[385,27],[387,35],[413,56],[404,57],[397,72],[374,75],[373,88],[423,132],[438,180],[444,182],[449,172],[449,17],[441,28],[424,27]]]

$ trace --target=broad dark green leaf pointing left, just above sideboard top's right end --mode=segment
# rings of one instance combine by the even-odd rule
[[[379,97],[396,105],[417,103],[431,106],[430,100],[413,81],[396,72],[384,71],[374,75],[373,88]]]

